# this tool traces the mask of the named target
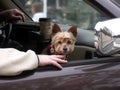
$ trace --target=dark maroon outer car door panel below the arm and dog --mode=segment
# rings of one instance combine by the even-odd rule
[[[63,70],[38,68],[28,74],[1,76],[0,90],[119,90],[120,57],[96,60],[63,64]]]

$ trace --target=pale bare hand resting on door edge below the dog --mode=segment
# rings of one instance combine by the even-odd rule
[[[64,58],[62,55],[38,55],[38,57],[40,59],[39,66],[54,65],[62,69],[59,63],[67,63],[66,60],[62,60]]]

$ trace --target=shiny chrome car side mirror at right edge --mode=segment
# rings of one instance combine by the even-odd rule
[[[120,29],[120,26],[115,23],[119,20],[113,19],[97,23],[95,47],[100,55],[109,56],[120,52],[120,32],[116,31],[116,29]]]

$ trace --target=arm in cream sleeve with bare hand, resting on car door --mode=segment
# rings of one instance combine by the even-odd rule
[[[54,65],[62,69],[59,63],[66,63],[63,56],[37,55],[34,51],[18,51],[13,48],[0,49],[0,75],[13,76],[26,70],[33,70],[38,66]]]

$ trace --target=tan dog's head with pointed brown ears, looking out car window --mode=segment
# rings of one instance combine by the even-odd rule
[[[59,55],[67,55],[73,52],[76,37],[76,26],[72,26],[68,31],[63,32],[57,24],[54,24],[52,29],[51,52]]]

